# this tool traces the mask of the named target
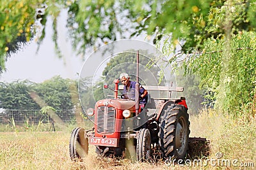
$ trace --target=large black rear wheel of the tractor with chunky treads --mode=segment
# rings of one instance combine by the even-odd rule
[[[164,111],[159,124],[159,146],[163,157],[184,159],[188,150],[189,120],[184,106],[172,104]]]

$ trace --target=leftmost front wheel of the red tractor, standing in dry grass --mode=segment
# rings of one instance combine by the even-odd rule
[[[83,159],[88,155],[88,138],[84,136],[84,129],[81,127],[75,128],[71,132],[69,141],[69,152],[72,160]]]

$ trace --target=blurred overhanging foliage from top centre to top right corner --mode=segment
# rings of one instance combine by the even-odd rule
[[[208,38],[225,36],[229,27],[234,33],[255,30],[255,8],[254,1],[241,0],[82,0],[68,6],[68,27],[74,46],[81,52],[97,41],[129,38],[145,31],[155,35],[156,42],[169,39],[172,43],[166,44],[167,48],[173,49],[179,43],[182,52],[192,52],[202,49]]]

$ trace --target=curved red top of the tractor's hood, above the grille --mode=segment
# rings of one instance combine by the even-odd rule
[[[127,99],[102,99],[97,101],[95,108],[99,106],[112,106],[118,108],[119,110],[127,110],[135,106],[135,101]]]

